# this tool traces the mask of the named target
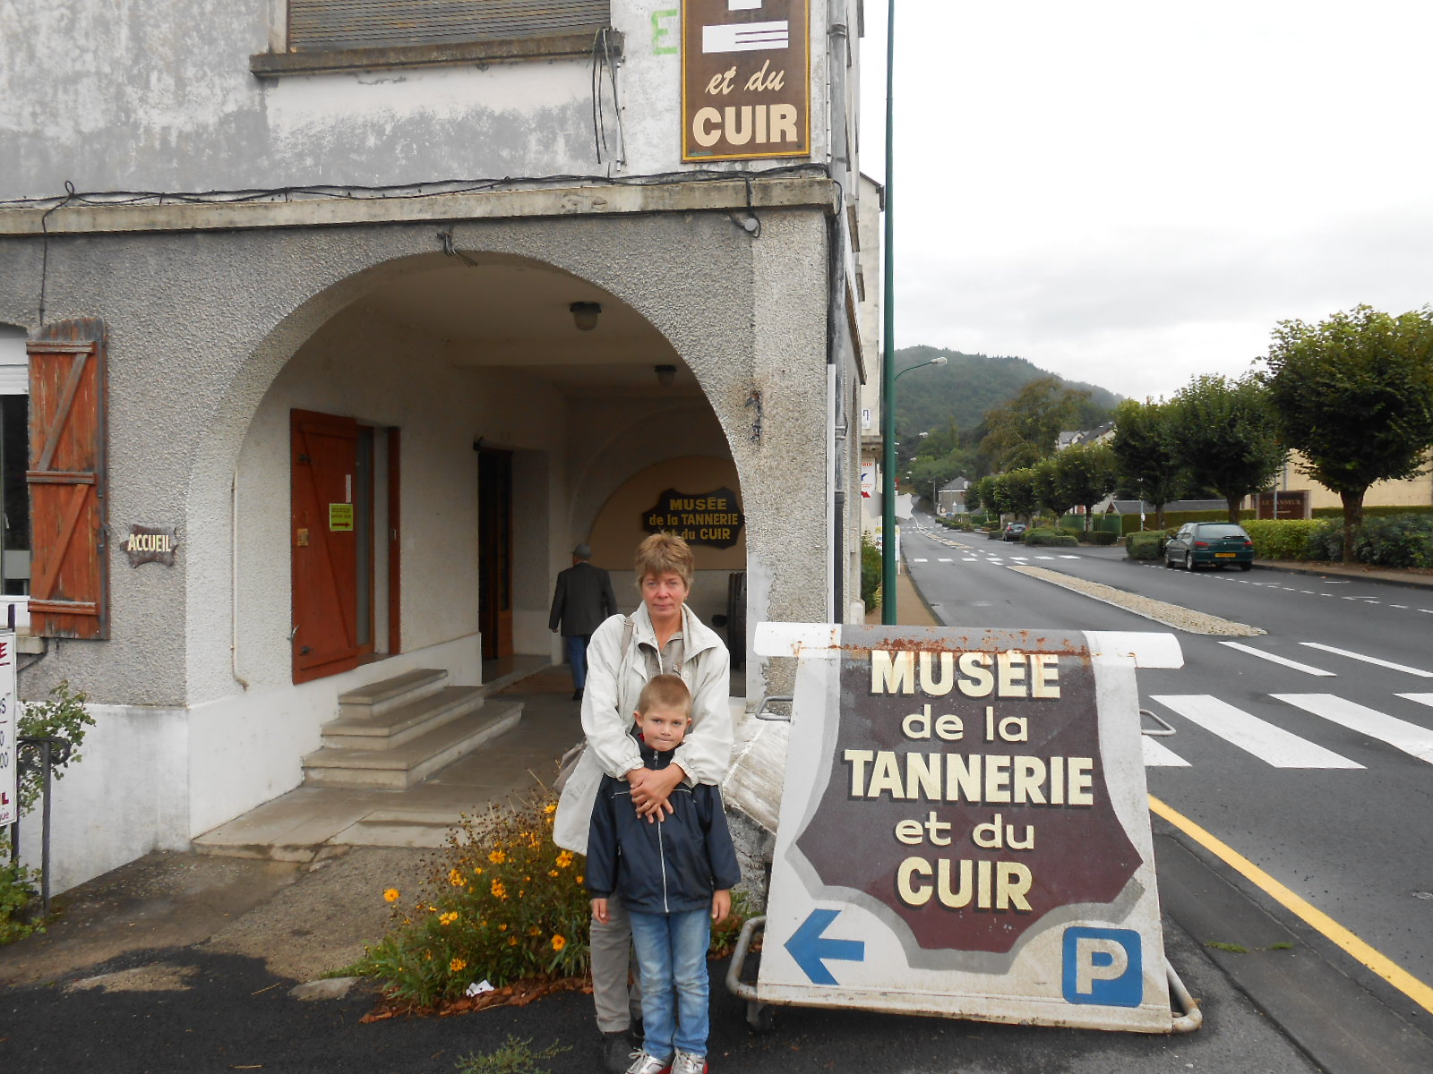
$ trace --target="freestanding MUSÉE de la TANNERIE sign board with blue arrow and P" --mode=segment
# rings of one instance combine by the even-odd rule
[[[759,1002],[1168,1032],[1135,667],[1171,634],[762,623],[798,657]]]

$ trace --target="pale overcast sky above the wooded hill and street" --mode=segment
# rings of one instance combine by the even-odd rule
[[[1281,319],[1433,302],[1430,43],[1430,0],[900,0],[896,345],[1144,398]]]

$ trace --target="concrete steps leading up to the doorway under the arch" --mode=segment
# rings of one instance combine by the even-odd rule
[[[341,695],[324,746],[304,758],[304,783],[406,790],[522,719],[522,702],[487,702],[484,687],[446,680],[417,669]]]

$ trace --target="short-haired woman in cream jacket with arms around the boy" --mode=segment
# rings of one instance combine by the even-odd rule
[[[636,583],[642,604],[631,616],[612,616],[588,646],[588,682],[582,696],[582,730],[588,749],[562,790],[553,839],[588,852],[592,802],[603,773],[626,779],[639,816],[671,812],[666,799],[679,782],[721,783],[731,763],[731,657],[727,646],[691,609],[692,550],[681,537],[658,533],[636,550]],[[648,769],[628,733],[642,686],[655,674],[679,674],[692,692],[692,725],[665,769]],[[631,967],[632,924],[615,896],[608,922],[592,922],[592,1000],[602,1031],[603,1065],[612,1074],[628,1068],[629,1030],[641,1018],[641,994]],[[639,1034],[632,1034],[639,1035]]]

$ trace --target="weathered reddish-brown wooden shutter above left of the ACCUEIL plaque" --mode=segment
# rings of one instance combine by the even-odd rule
[[[109,637],[106,331],[95,318],[46,325],[30,354],[30,629]]]

